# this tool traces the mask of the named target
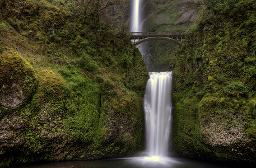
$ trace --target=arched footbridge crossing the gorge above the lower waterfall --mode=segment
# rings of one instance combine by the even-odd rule
[[[169,40],[175,44],[181,45],[183,39],[185,39],[185,32],[129,32],[130,38],[133,41],[133,45],[141,44],[149,40]]]

